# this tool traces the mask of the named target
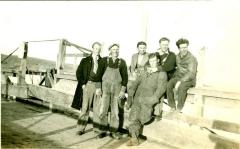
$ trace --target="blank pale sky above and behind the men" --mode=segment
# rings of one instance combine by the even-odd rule
[[[239,19],[237,1],[0,2],[0,50],[9,54],[23,41],[65,38],[89,49],[99,41],[106,56],[117,42],[129,64],[140,40],[153,52],[168,37],[177,53],[175,42],[184,37],[196,56],[206,47],[207,84],[240,90]],[[57,52],[57,42],[29,44],[29,56],[56,60]]]

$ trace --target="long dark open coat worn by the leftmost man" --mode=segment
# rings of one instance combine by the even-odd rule
[[[100,61],[101,61],[101,57],[99,57],[98,59],[98,64],[100,65]],[[73,98],[73,102],[72,102],[72,108],[81,109],[82,106],[82,85],[86,84],[87,81],[89,80],[89,76],[90,76],[90,71],[92,68],[92,62],[93,62],[93,58],[92,55],[83,58],[80,62],[80,64],[78,65],[77,71],[76,71],[76,77],[77,77],[77,81],[78,81],[78,85],[77,88],[75,90],[75,94],[74,94],[74,98]],[[98,66],[99,68],[99,66]],[[97,70],[96,73],[96,77],[95,77],[95,82],[101,82],[102,81],[102,77],[99,75],[99,69]],[[101,86],[99,86],[101,87]]]

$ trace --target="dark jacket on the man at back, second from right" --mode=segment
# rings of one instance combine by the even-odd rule
[[[168,76],[168,80],[170,80],[175,72],[175,68],[176,68],[176,55],[175,53],[169,51],[169,54],[167,55],[167,58],[165,60],[165,62],[162,62],[162,59],[159,55],[158,52],[156,52],[157,57],[159,59],[159,63],[160,63],[160,71],[165,71],[167,72],[167,76]]]

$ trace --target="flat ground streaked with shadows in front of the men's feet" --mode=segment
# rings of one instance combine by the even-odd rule
[[[115,140],[107,136],[97,139],[89,124],[86,133],[76,134],[76,119],[52,113],[44,107],[29,103],[1,100],[1,147],[2,148],[129,148],[128,137]],[[142,141],[134,148],[172,149],[158,141]]]

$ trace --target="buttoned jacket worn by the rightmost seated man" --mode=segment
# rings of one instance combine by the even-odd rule
[[[196,84],[197,74],[197,59],[188,51],[184,57],[177,55],[177,70],[174,77],[178,78],[182,82],[192,81],[193,85]]]

